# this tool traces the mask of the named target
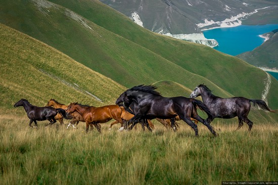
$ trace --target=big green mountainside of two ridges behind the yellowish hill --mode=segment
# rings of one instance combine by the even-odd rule
[[[1,1],[0,20],[126,87],[171,80],[191,89],[205,83],[234,96],[261,98],[266,73],[238,58],[155,34],[99,1],[53,2],[63,7],[48,1]],[[267,96],[274,108],[276,83]]]

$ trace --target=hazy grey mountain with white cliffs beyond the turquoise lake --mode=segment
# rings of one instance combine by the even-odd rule
[[[215,47],[201,30],[231,27],[265,7],[277,7],[275,1],[255,0],[100,0],[137,24],[156,33]],[[269,13],[269,12],[268,12]],[[276,14],[274,11],[273,14]],[[255,23],[257,24],[257,23]]]

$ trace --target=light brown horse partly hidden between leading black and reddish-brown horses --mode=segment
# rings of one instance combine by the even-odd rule
[[[54,99],[51,99],[50,101],[48,101],[47,106],[53,106],[56,109],[57,108],[66,109],[68,107],[67,105],[61,104]],[[78,112],[73,112],[70,115],[73,117],[73,119],[70,121],[67,128],[69,128],[70,125],[72,125],[73,128],[77,128],[74,126],[75,123],[77,126],[79,121],[85,122],[84,118]],[[55,119],[60,121],[60,116],[59,115],[55,116]],[[61,121],[63,121],[63,117],[62,117]],[[61,123],[61,121],[60,121],[60,123]],[[92,124],[90,126],[91,126],[91,129],[93,129]],[[101,126],[101,125],[99,125],[99,126]]]

